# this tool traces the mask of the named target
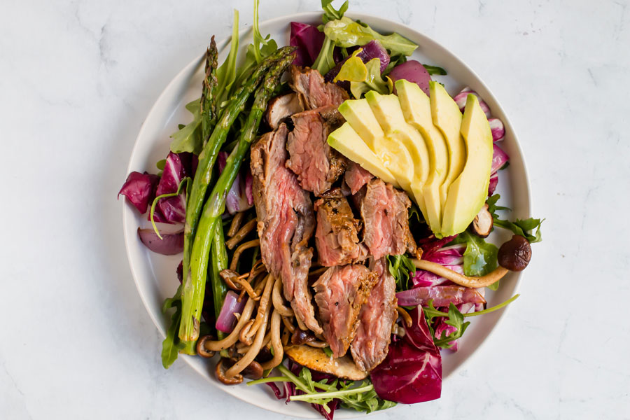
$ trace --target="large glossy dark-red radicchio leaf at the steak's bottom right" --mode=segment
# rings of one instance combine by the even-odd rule
[[[442,393],[442,357],[433,344],[422,309],[409,312],[412,326],[389,345],[387,357],[372,374],[380,398],[404,404],[430,401]]]

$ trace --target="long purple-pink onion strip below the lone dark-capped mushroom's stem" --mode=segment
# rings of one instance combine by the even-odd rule
[[[396,293],[396,299],[400,306],[426,305],[431,299],[434,307],[447,307],[451,303],[486,302],[476,289],[462,286],[416,287]]]

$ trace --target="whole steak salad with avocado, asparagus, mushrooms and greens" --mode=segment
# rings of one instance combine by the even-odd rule
[[[502,216],[505,128],[479,94],[451,97],[432,77],[447,69],[348,6],[322,0],[321,25],[291,22],[279,47],[255,0],[240,60],[235,11],[190,122],[119,193],[146,214],[143,244],[182,255],[164,367],[211,358],[226,386],[267,386],[326,419],[440,398],[442,352],[467,318],[518,297],[487,308],[485,290],[528,265],[542,223]],[[513,233],[500,247],[486,241],[497,229]]]

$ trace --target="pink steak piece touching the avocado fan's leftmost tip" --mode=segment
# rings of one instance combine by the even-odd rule
[[[346,158],[328,146],[328,134],[337,130],[344,118],[335,106],[323,106],[291,116],[294,129],[288,135],[290,159],[286,167],[297,175],[304,190],[321,196],[346,169]]]

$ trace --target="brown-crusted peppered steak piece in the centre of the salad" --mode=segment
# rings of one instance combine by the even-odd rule
[[[317,228],[315,245],[324,267],[351,264],[367,258],[367,247],[359,243],[356,220],[348,200],[339,188],[328,191],[315,202]]]

